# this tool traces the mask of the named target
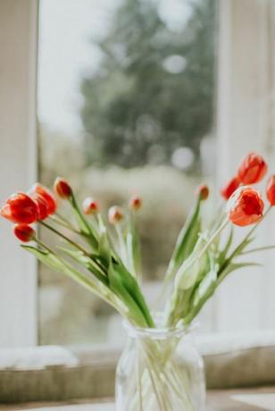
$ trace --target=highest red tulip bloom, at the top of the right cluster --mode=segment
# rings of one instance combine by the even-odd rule
[[[263,179],[267,164],[261,155],[249,153],[238,167],[238,178],[243,184],[254,184]]]

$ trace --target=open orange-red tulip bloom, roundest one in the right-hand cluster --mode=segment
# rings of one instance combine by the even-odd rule
[[[240,187],[229,198],[229,220],[246,226],[262,219],[264,203],[260,193],[250,187]]]

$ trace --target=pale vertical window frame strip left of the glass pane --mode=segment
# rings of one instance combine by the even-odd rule
[[[1,201],[37,179],[37,0],[0,2]],[[0,219],[0,347],[37,345],[37,262]]]

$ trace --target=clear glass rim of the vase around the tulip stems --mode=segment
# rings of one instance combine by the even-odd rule
[[[198,326],[197,322],[193,322],[190,324],[179,323],[175,327],[163,327],[163,313],[156,313],[153,316],[156,323],[155,328],[137,327],[136,325],[129,323],[127,320],[123,321],[123,326],[130,337],[151,340],[166,340],[173,337],[182,338],[183,336],[195,331]]]

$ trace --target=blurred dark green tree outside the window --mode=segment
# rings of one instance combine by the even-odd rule
[[[88,163],[170,164],[179,147],[198,156],[212,128],[216,4],[187,3],[192,13],[178,30],[158,1],[123,0],[117,9],[97,43],[98,70],[81,83]]]

